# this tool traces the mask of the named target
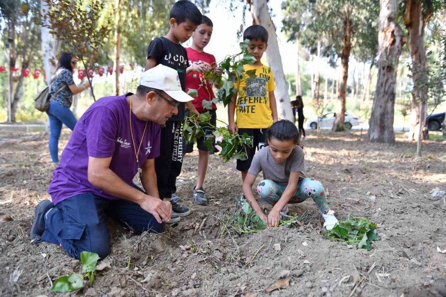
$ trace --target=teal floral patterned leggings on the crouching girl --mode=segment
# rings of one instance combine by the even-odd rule
[[[257,186],[259,196],[271,205],[279,201],[284,191],[285,187],[269,179],[261,181]],[[324,187],[319,181],[312,178],[304,178],[297,184],[297,191],[288,203],[300,203],[308,198],[313,198],[321,213],[326,214],[330,210]]]

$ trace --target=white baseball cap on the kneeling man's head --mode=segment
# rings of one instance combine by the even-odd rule
[[[187,95],[181,89],[178,72],[175,69],[161,64],[144,71],[141,75],[141,82],[139,84],[148,88],[162,90],[178,102],[188,102],[193,100],[192,97]]]

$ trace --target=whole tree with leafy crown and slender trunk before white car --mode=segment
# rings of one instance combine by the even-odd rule
[[[283,27],[287,32],[302,34],[304,46],[314,47],[316,41],[324,38],[328,46],[323,54],[335,61],[341,58],[342,74],[338,85],[338,102],[334,131],[344,130],[345,100],[347,92],[348,60],[352,49],[360,45],[367,36],[363,28],[371,27],[378,17],[378,7],[372,0],[285,0],[287,7]],[[302,18],[293,23],[287,11],[299,11]],[[370,34],[368,36],[370,38]]]

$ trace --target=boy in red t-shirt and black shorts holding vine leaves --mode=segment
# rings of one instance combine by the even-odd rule
[[[187,57],[189,59],[190,67],[214,67],[215,57],[214,55],[204,52],[204,48],[208,45],[211,40],[213,30],[212,21],[205,15],[203,15],[202,23],[195,29],[192,33],[192,45],[187,48]],[[189,70],[189,69],[188,69]],[[215,72],[217,75],[222,75],[222,68],[216,68]],[[192,103],[195,108],[200,113],[209,112],[211,114],[211,125],[214,127],[217,124],[216,110],[217,106],[213,103],[212,109],[208,110],[203,107],[203,101],[210,101],[215,98],[214,92],[212,90],[212,84],[208,81],[203,82],[203,74],[198,71],[188,71],[186,75],[186,90],[196,89],[198,90],[198,96],[194,98]],[[194,202],[201,205],[207,204],[206,194],[203,190],[203,183],[206,176],[206,170],[208,168],[209,161],[209,149],[206,146],[206,141],[212,141],[212,147],[215,146],[215,136],[213,132],[215,129],[213,127],[203,127],[205,135],[197,140],[198,147],[198,178],[197,184],[194,188],[193,198]],[[184,152],[192,152],[194,144],[190,143],[185,146]],[[212,151],[213,152],[213,151]]]

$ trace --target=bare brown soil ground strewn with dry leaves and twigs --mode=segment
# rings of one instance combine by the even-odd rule
[[[60,148],[69,135],[63,133]],[[192,214],[162,235],[132,236],[111,222],[111,255],[94,287],[71,295],[446,296],[446,253],[437,251],[446,249],[446,202],[430,194],[446,190],[446,142],[425,142],[415,160],[415,144],[398,137],[390,146],[367,143],[360,132],[323,132],[303,143],[308,175],[326,187],[337,218],[351,214],[378,224],[380,240],[370,251],[327,240],[313,201],[290,207],[293,215],[305,214],[300,228],[248,235],[225,228],[241,191],[235,161],[211,156],[210,203],[198,206],[191,202],[194,152],[178,179],[178,195]],[[0,139],[0,296],[53,296],[52,282],[81,265],[56,245],[29,244],[34,208],[49,198],[48,136],[0,133]],[[288,286],[264,291],[281,276]]]

